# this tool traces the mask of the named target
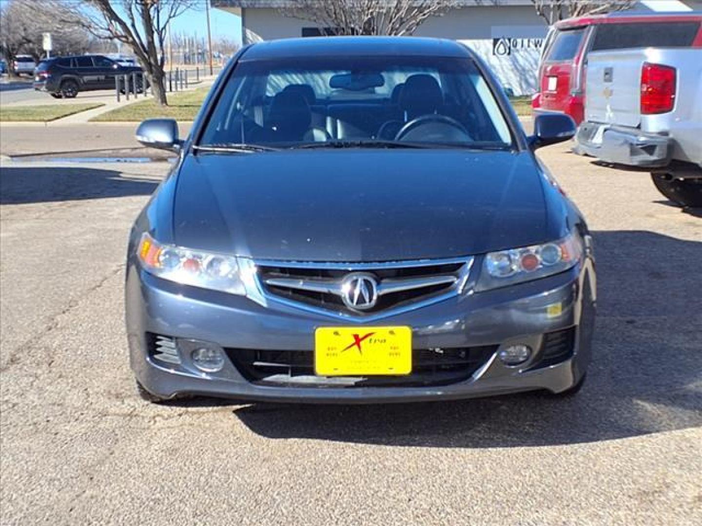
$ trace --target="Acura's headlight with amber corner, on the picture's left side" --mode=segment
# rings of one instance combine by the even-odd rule
[[[236,257],[162,245],[149,234],[141,236],[137,255],[154,276],[184,285],[245,295]]]

